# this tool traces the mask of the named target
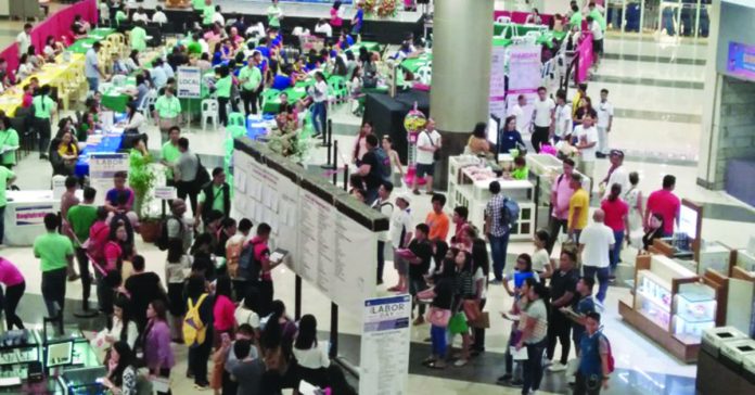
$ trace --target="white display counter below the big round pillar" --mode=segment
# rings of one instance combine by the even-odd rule
[[[510,160],[503,157],[501,162],[509,163]],[[511,229],[510,240],[532,240],[535,234],[535,184],[529,180],[507,178],[504,168],[506,165],[501,167],[495,161],[474,155],[449,157],[449,207],[466,207],[470,224],[482,231],[485,228],[485,207],[492,197],[489,187],[492,181],[498,181],[501,193],[520,206],[520,218]]]

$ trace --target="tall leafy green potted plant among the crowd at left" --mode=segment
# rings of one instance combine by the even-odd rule
[[[159,217],[150,212],[154,200],[152,189],[157,180],[152,155],[133,150],[129,157],[128,179],[135,194],[133,208],[139,216],[139,233],[145,243],[154,243],[159,237]]]

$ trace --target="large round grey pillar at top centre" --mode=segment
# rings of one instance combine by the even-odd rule
[[[448,187],[448,156],[460,154],[474,125],[489,118],[494,0],[435,0],[430,113],[443,136],[435,186]]]

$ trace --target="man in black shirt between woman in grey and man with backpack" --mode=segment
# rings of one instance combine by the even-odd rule
[[[555,356],[555,343],[561,343],[561,358],[548,368],[552,372],[566,370],[568,361],[568,351],[572,346],[570,340],[572,324],[559,309],[571,306],[577,293],[579,270],[574,268],[576,263],[577,256],[574,253],[562,252],[559,258],[559,268],[553,272],[550,281],[551,314],[548,322],[548,349],[546,353],[549,360],[553,360]]]

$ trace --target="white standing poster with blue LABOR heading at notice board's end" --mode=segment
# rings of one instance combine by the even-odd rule
[[[408,394],[411,296],[364,301],[359,394]]]

